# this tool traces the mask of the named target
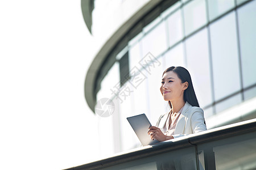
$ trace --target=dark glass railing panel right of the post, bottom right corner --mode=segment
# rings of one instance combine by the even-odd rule
[[[197,145],[199,153],[204,152],[204,161],[211,163],[215,159],[216,169],[255,169],[256,133],[243,133],[220,140]],[[208,156],[206,156],[208,155]],[[199,157],[199,159],[201,156]],[[200,160],[201,162],[201,160]],[[205,163],[206,164],[206,163]],[[212,168],[212,167],[208,167]],[[201,167],[200,167],[201,169]],[[203,168],[202,168],[203,169]],[[205,167],[207,169],[207,167]]]

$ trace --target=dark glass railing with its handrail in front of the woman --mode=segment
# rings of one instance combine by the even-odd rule
[[[144,146],[71,169],[256,169],[256,119]]]

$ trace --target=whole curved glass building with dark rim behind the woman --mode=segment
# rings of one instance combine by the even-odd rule
[[[81,1],[98,53],[85,79],[85,99],[98,116],[102,152],[140,145],[126,117],[151,124],[168,111],[163,71],[192,76],[208,129],[256,117],[256,1]],[[111,99],[111,115],[97,101]],[[113,111],[113,112],[112,112]]]

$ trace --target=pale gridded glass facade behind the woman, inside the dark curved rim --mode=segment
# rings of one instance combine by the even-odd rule
[[[131,130],[126,128],[126,117],[146,113],[154,125],[168,111],[159,91],[167,67],[184,66],[189,70],[205,118],[255,97],[255,16],[256,1],[183,0],[156,16],[129,40],[125,54],[130,73],[134,73],[124,84],[129,87],[129,95],[106,96],[119,82],[116,68],[122,56],[117,57],[115,69],[102,80],[104,88],[97,94],[97,99],[111,97],[120,101],[118,124],[121,146],[125,146],[121,150],[139,145],[137,139],[126,135]]]

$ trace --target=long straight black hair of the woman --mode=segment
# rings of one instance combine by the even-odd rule
[[[184,91],[183,99],[184,101],[188,101],[189,104],[191,104],[193,107],[199,107],[199,103],[196,98],[195,90],[193,88],[193,83],[191,80],[191,76],[187,69],[184,67],[169,67],[166,70],[164,70],[164,73],[167,73],[169,71],[174,71],[177,76],[181,79],[181,83],[188,82],[188,88]],[[171,101],[168,101],[170,108],[172,108]]]

